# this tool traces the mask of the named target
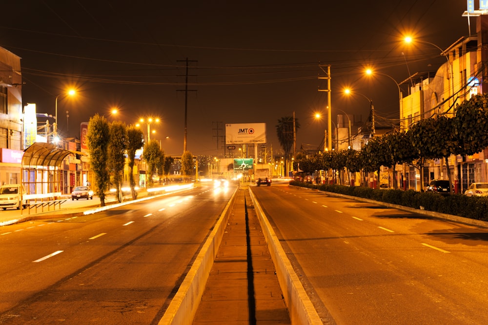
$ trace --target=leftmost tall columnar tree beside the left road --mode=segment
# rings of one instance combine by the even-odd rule
[[[107,166],[107,149],[110,141],[110,127],[105,117],[96,114],[88,122],[88,151],[90,153],[90,168],[95,174],[97,195],[100,205],[105,206],[105,189],[109,183]]]

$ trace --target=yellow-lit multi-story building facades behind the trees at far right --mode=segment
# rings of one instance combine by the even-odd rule
[[[476,35],[459,38],[444,50],[446,62],[437,71],[419,72],[400,83],[410,84],[409,95],[402,99],[400,110],[403,130],[422,118],[441,114],[451,117],[457,105],[473,95],[487,93],[488,88],[483,88],[488,77],[487,36],[488,15],[480,15],[476,17]],[[432,179],[448,179],[447,172],[461,192],[473,182],[488,181],[488,150],[472,156],[452,155],[448,163],[449,171],[442,159],[428,161],[422,180],[412,166],[402,170],[399,177],[407,180],[408,188],[416,190]]]

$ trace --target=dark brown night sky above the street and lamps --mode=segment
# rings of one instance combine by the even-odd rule
[[[0,46],[21,57],[23,104],[36,103],[38,113],[54,115],[56,96],[78,90],[58,100],[65,136],[79,136],[80,123],[95,113],[127,124],[160,117],[151,139],[181,155],[188,59],[187,150],[222,155],[217,134],[225,123],[266,123],[276,153],[278,119],[293,112],[301,125],[297,148],[323,141],[326,120],[313,117],[326,114],[319,63],[331,65],[334,122],[339,110],[366,122],[369,103],[343,95],[348,87],[373,99],[385,126],[392,124],[397,85],[366,77],[365,67],[398,83],[409,72],[437,70],[446,60],[437,48],[407,46],[403,37],[445,49],[469,34],[466,7],[466,0],[4,1]],[[114,106],[117,117],[109,113]]]

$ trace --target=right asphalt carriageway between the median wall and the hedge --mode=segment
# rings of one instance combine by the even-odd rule
[[[325,323],[488,324],[487,229],[287,185],[252,191]]]

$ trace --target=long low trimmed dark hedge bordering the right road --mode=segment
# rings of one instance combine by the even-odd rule
[[[469,197],[463,194],[442,196],[434,192],[390,189],[376,190],[361,186],[343,186],[335,184],[316,185],[297,181],[291,181],[290,185],[332,193],[346,194],[374,201],[401,205],[413,209],[424,209],[470,219],[488,221],[488,197],[485,196]]]

